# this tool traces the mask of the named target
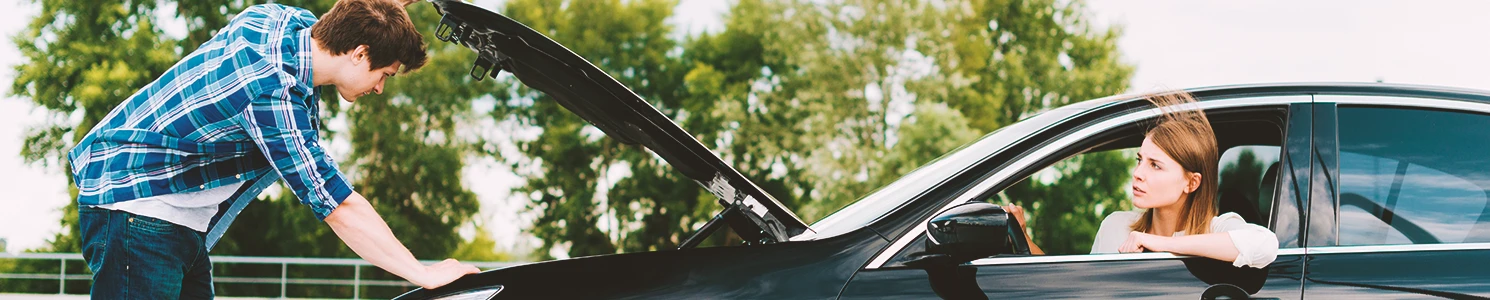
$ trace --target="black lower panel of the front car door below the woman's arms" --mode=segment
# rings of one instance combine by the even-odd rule
[[[1240,278],[1261,285],[1253,297],[1299,299],[1301,254],[1280,255],[1265,279],[1199,257],[878,269],[854,276],[840,299],[1180,299]]]

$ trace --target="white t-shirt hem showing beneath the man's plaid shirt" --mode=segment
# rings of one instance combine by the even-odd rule
[[[194,193],[176,193],[155,197],[136,199],[121,203],[101,204],[100,209],[125,210],[136,215],[164,219],[176,225],[207,231],[212,216],[218,215],[218,204],[232,197],[243,182],[224,185],[212,190]]]

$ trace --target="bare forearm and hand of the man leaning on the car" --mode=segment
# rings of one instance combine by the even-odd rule
[[[408,252],[408,248],[393,237],[393,231],[387,228],[383,216],[378,216],[372,210],[372,203],[368,203],[358,193],[352,193],[335,210],[331,210],[331,215],[326,216],[326,224],[362,260],[423,288],[438,288],[460,276],[481,272],[475,266],[462,264],[456,260],[446,260],[432,266],[420,264]]]

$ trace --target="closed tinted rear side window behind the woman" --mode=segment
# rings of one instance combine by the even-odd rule
[[[1490,242],[1490,116],[1340,107],[1340,245]]]

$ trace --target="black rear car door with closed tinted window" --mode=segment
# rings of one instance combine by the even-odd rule
[[[1490,297],[1490,104],[1317,100],[1304,297]]]

